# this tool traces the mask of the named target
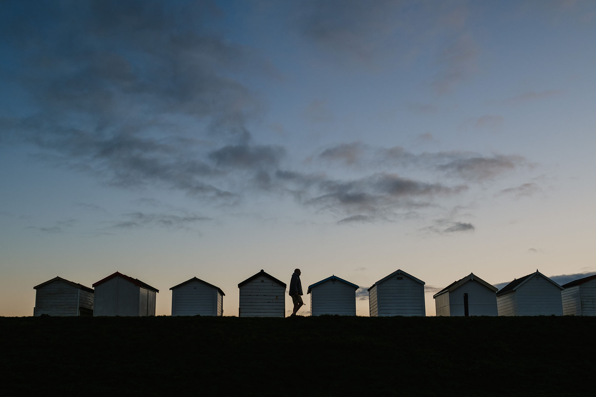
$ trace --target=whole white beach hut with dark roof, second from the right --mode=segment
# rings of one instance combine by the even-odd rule
[[[563,287],[536,269],[496,293],[499,316],[563,315]]]

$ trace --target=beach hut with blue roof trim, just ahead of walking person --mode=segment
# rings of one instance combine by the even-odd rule
[[[327,277],[318,283],[308,286],[311,294],[311,315],[338,314],[356,315],[356,284],[343,280],[336,275]]]

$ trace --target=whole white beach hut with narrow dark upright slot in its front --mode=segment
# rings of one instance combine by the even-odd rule
[[[497,290],[470,273],[433,295],[437,316],[496,316]]]

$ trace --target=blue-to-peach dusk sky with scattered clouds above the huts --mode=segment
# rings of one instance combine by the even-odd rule
[[[119,271],[596,272],[593,1],[3,1],[0,315]],[[299,314],[308,314],[306,308]],[[286,299],[290,309],[291,299]]]

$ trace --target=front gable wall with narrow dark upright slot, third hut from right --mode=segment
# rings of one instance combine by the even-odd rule
[[[496,316],[496,293],[477,281],[468,281],[449,293],[451,316],[464,315],[464,293],[468,294],[468,314],[471,316]]]

